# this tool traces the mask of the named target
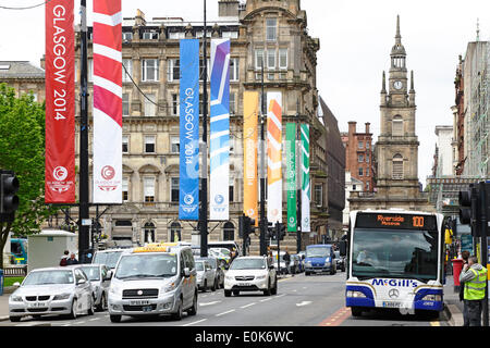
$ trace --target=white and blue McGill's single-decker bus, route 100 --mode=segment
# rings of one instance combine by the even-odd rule
[[[443,215],[403,210],[351,212],[346,307],[403,314],[443,310]],[[430,312],[427,312],[430,313]]]

